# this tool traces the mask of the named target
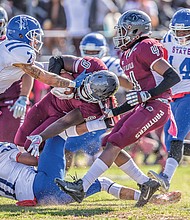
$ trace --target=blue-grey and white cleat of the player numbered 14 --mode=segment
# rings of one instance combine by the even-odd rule
[[[168,181],[168,176],[164,173],[157,174],[153,170],[148,171],[148,176],[152,179],[157,180],[160,183],[159,190],[163,193],[168,192],[170,188],[170,183]]]

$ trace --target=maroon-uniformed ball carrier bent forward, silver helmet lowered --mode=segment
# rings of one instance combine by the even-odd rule
[[[49,67],[52,72],[58,74],[62,69],[70,72],[70,77],[77,82],[82,76],[81,86],[72,91],[54,87],[31,108],[15,136],[15,143],[26,149],[30,143],[27,136],[39,134],[48,125],[62,117],[64,119],[61,131],[83,121],[101,117],[103,104],[99,105],[99,103],[107,102],[119,86],[117,76],[107,71],[105,64],[98,58],[69,55],[52,57]],[[83,78],[84,75],[86,78]],[[55,131],[58,129],[59,127]]]

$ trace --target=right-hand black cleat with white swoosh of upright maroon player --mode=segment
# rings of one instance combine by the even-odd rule
[[[152,195],[158,190],[160,184],[157,180],[149,179],[149,181],[138,185],[141,191],[141,195],[135,207],[142,207],[150,200]]]

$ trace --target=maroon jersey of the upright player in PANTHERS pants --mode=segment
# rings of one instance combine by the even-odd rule
[[[154,62],[163,57],[162,44],[150,38],[142,40],[131,50],[122,54],[120,64],[128,79],[133,83],[134,90],[150,90],[163,80],[162,76],[151,69]],[[170,98],[170,92],[168,90],[159,97]]]

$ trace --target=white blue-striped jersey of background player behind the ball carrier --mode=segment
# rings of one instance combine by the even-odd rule
[[[115,73],[118,77],[122,75],[125,77],[118,58],[105,56],[101,60],[106,64],[109,71]]]

